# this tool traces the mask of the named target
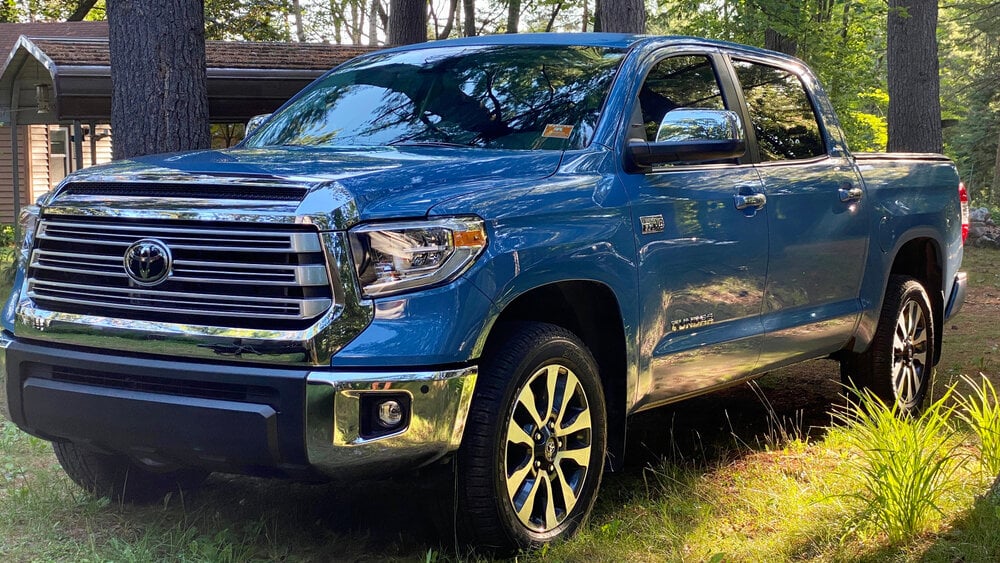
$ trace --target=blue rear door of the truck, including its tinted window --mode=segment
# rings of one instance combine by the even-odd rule
[[[869,205],[846,154],[818,115],[818,85],[782,61],[734,55],[767,196],[766,331],[759,370],[840,349],[861,311]],[[808,87],[807,87],[808,84]]]

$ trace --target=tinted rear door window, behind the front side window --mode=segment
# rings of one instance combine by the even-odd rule
[[[826,154],[816,113],[795,74],[773,66],[733,61],[764,161]]]

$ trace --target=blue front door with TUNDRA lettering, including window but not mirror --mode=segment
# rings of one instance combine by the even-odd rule
[[[626,136],[653,141],[672,109],[733,108],[722,64],[715,52],[656,57],[635,93]],[[762,191],[756,169],[741,161],[664,165],[622,181],[638,249],[636,407],[750,375],[763,342],[767,209],[739,210],[736,200]]]

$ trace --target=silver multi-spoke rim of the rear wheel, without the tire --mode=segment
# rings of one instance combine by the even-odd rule
[[[899,406],[910,409],[923,397],[931,365],[927,316],[916,301],[906,301],[892,340],[892,389]]]

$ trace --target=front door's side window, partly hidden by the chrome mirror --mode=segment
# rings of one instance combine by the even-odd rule
[[[654,141],[663,116],[677,108],[725,109],[722,89],[708,57],[683,55],[656,63],[639,90],[629,138]]]

